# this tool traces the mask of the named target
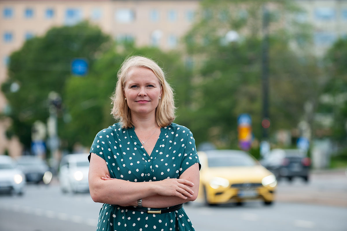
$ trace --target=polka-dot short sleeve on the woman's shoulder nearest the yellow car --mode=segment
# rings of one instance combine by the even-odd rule
[[[195,140],[193,138],[193,133],[189,131],[185,144],[184,155],[181,161],[181,166],[179,168],[179,175],[184,173],[184,171],[186,171],[189,167],[193,166],[196,163],[199,163],[200,170],[201,165],[195,147]]]

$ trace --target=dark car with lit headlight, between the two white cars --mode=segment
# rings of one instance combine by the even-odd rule
[[[49,184],[52,180],[52,173],[47,163],[38,156],[20,156],[17,158],[20,170],[25,174],[27,182]]]

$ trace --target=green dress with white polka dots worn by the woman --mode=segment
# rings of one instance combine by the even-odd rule
[[[138,140],[134,128],[122,129],[120,123],[101,130],[90,152],[106,161],[111,178],[132,182],[179,178],[187,168],[199,163],[192,132],[175,123],[161,128],[150,156]],[[103,204],[96,230],[194,231],[194,227],[184,208],[169,213],[149,214]]]

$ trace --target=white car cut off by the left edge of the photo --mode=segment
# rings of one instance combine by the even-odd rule
[[[15,161],[9,156],[0,155],[0,191],[23,195],[25,185],[25,175],[17,168]]]

